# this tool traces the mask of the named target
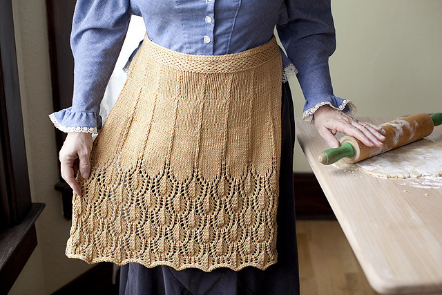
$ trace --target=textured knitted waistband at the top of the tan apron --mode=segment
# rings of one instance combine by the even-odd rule
[[[275,57],[275,55],[280,54],[274,35],[266,44],[241,51],[240,53],[192,55],[160,46],[151,41],[146,33],[140,50],[160,64],[170,66],[176,70],[195,73],[234,73],[241,70],[250,70],[262,66],[262,64]]]

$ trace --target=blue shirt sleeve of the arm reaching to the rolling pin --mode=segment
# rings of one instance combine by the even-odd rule
[[[305,97],[304,120],[312,122],[314,112],[325,104],[346,113],[356,111],[348,99],[333,94],[329,57],[336,49],[336,38],[330,0],[285,0],[276,30],[296,67]]]

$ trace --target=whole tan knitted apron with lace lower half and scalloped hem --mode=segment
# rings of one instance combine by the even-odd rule
[[[282,61],[275,37],[189,55],[146,35],[77,174],[66,255],[239,270],[276,263]]]

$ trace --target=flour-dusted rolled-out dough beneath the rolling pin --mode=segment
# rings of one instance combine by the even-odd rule
[[[425,137],[356,164],[338,161],[340,169],[357,169],[383,178],[400,178],[414,187],[442,187],[442,140]]]

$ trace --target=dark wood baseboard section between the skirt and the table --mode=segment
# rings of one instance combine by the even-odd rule
[[[336,219],[314,173],[294,173],[296,219]]]

